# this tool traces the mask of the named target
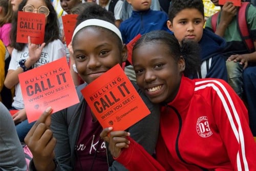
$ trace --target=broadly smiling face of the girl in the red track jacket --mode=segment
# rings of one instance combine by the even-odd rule
[[[142,44],[133,51],[133,65],[138,86],[153,103],[170,102],[176,97],[185,62],[183,58],[176,61],[165,44]]]

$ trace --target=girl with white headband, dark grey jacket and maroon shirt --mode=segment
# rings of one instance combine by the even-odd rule
[[[81,78],[89,84],[127,58],[127,49],[114,22],[113,14],[98,5],[87,8],[77,18],[72,38],[75,64]],[[79,97],[87,83],[77,87]],[[159,109],[134,85],[151,114],[127,131],[153,154]],[[31,170],[127,170],[117,161],[110,161],[112,156],[107,157],[106,144],[99,136],[102,127],[83,97],[75,107],[50,116],[51,112],[48,108],[25,138],[33,154]]]

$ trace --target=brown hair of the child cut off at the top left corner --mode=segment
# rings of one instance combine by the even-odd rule
[[[0,27],[2,27],[4,24],[12,22],[13,11],[11,1],[9,0],[1,0],[0,7],[3,7],[5,14],[5,17],[0,19]]]

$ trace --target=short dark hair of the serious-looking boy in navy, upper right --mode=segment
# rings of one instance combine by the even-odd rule
[[[173,23],[174,17],[187,8],[197,9],[204,18],[204,4],[202,0],[173,0],[169,7],[169,20]]]

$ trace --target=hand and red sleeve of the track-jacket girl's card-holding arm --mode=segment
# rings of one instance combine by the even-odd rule
[[[114,159],[127,169],[133,170],[165,170],[145,149],[127,137],[130,133],[125,131],[111,132],[112,127],[104,129],[100,136],[109,143],[109,149]],[[108,137],[108,133],[110,136]]]

